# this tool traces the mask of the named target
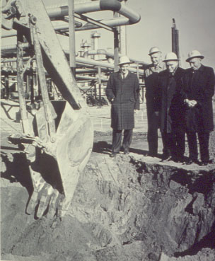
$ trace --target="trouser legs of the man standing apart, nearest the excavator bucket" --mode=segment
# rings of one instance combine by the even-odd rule
[[[133,129],[124,129],[122,141],[122,129],[112,129],[112,152],[120,152],[121,141],[124,151],[129,151],[132,143]]]

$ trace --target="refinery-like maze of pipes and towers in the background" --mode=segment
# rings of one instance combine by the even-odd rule
[[[14,1],[12,1],[14,2]],[[71,1],[72,2],[72,1]],[[78,2],[76,4],[76,2]],[[83,1],[82,1],[83,2]],[[124,1],[85,1],[80,4],[80,1],[75,1],[74,5],[74,15],[69,16],[69,10],[71,6],[57,6],[57,7],[48,7],[47,14],[49,15],[52,21],[57,21],[55,23],[54,30],[57,34],[67,36],[69,39],[69,50],[64,50],[66,57],[69,59],[69,63],[74,71],[76,81],[78,82],[81,93],[86,97],[87,103],[91,105],[103,105],[107,103],[104,97],[105,82],[108,81],[108,76],[111,71],[117,71],[117,60],[119,55],[126,54],[126,37],[125,37],[125,26],[123,29],[122,25],[129,25],[137,23],[140,19],[139,15],[134,11],[130,10],[123,3]],[[72,4],[71,4],[72,5]],[[7,4],[8,6],[8,4]],[[3,8],[3,11],[6,8]],[[103,11],[109,10],[114,12],[114,17],[109,20],[104,21],[95,21],[92,18],[88,18],[83,13],[90,13],[94,11]],[[72,13],[72,11],[70,11]],[[120,16],[118,14],[121,14]],[[4,16],[6,11],[4,11]],[[123,15],[123,16],[122,16]],[[70,17],[70,18],[69,18]],[[73,25],[69,22],[74,18],[79,21],[74,22]],[[10,19],[11,21],[11,19]],[[60,21],[60,22],[59,22]],[[116,26],[120,25],[120,26]],[[8,25],[8,19],[4,19],[3,27],[7,29],[12,29],[11,25]],[[96,31],[97,28],[104,28],[113,33],[113,42],[114,42],[114,51],[110,52],[107,50],[99,49],[99,38],[100,33]],[[83,41],[81,44],[81,50],[79,56],[75,50],[75,31],[80,30],[93,30],[91,33],[91,44]],[[2,35],[2,37],[12,37],[16,35],[16,30],[8,30]],[[25,57],[23,61],[28,61],[29,55],[29,46],[28,43],[23,45],[25,50]],[[101,55],[103,54],[103,55]],[[2,98],[18,98],[16,83],[14,83],[14,76],[16,76],[16,45],[6,45],[1,48],[1,74],[2,82],[4,83],[5,88],[1,91]],[[102,57],[100,59],[100,57]],[[91,59],[89,59],[91,58]],[[131,71],[137,72],[138,76],[143,74],[143,70],[139,69],[138,64],[144,64],[144,62],[131,59],[134,64],[134,68]],[[57,99],[61,97],[61,94],[57,92],[56,86],[52,79],[49,79],[48,74],[46,77],[49,81],[49,93],[50,98]],[[32,79],[32,80],[31,80]],[[32,59],[26,67],[24,73],[24,84],[25,84],[25,93],[33,102],[33,95],[30,95],[30,88],[35,90],[35,95],[40,94],[40,88],[37,84],[37,71],[35,66],[35,60]],[[30,84],[33,86],[30,87]],[[16,91],[14,91],[14,88]],[[11,89],[11,91],[10,91]]]

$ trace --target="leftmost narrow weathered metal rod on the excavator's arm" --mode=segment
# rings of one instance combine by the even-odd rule
[[[28,134],[28,113],[25,105],[25,92],[23,88],[23,35],[17,31],[17,89],[18,100],[21,112],[21,127],[25,134]]]

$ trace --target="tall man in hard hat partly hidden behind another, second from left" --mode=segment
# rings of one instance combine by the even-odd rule
[[[149,64],[144,71],[146,112],[148,120],[147,140],[149,144],[149,156],[155,157],[158,154],[159,129],[159,117],[154,112],[155,87],[158,73],[165,69],[165,64],[162,61],[161,50],[158,47],[151,47],[149,56],[151,58],[151,64]]]

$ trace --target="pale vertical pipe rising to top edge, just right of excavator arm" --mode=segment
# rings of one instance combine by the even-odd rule
[[[75,21],[74,21],[74,0],[69,2],[69,64],[75,76],[76,68],[76,40],[75,40]]]

